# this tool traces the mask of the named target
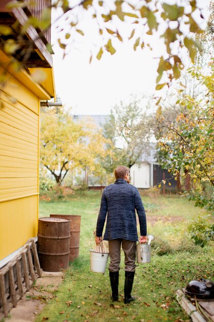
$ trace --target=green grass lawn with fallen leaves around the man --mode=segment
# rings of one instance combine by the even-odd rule
[[[81,215],[80,257],[70,263],[64,281],[52,299],[47,299],[36,322],[113,322],[185,321],[176,301],[176,291],[196,278],[214,279],[212,244],[194,246],[187,235],[188,221],[204,210],[177,195],[145,193],[142,200],[147,213],[148,232],[155,237],[152,259],[136,269],[132,294],[137,300],[123,303],[124,264],[120,270],[120,301],[112,302],[108,270],[90,272],[90,248],[100,206],[100,191],[76,191],[66,200],[40,202],[40,216],[50,213]],[[165,254],[165,255],[163,255]],[[162,255],[162,256],[160,256]]]

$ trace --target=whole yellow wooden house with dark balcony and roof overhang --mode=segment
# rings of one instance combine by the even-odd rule
[[[40,19],[51,5],[37,0],[35,6],[7,9],[8,2],[0,2],[0,24],[12,28],[15,41],[28,17]],[[50,30],[29,26],[12,55],[5,51],[7,39],[0,34],[0,269],[37,235],[40,101],[55,97]],[[14,59],[22,62],[20,70]],[[35,70],[43,70],[44,81],[35,82]]]

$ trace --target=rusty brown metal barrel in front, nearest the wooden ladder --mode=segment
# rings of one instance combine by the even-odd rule
[[[67,269],[70,254],[70,220],[44,217],[38,220],[38,259],[46,272]]]

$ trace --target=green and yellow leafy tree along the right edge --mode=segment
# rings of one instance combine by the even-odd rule
[[[196,78],[205,88],[204,96],[182,95],[176,102],[180,105],[181,113],[177,115],[176,122],[165,119],[160,113],[157,123],[153,124],[163,129],[159,137],[162,151],[162,165],[176,178],[188,178],[190,185],[186,186],[185,195],[195,202],[196,207],[213,213],[214,199],[214,74],[213,62],[211,71],[203,75],[200,69],[189,69],[192,78]],[[183,109],[183,110],[182,110]],[[192,229],[192,238],[196,244],[203,246],[207,241],[213,241],[213,226],[201,227],[202,236],[198,236]]]

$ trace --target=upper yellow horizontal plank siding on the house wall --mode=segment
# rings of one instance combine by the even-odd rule
[[[38,192],[38,115],[25,118],[21,108],[4,102],[0,110],[0,201]]]

